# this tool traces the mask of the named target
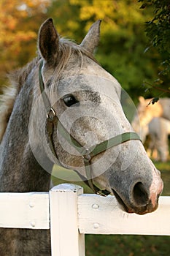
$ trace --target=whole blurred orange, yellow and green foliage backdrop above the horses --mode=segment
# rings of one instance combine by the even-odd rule
[[[170,29],[166,28],[169,16],[164,20],[166,14],[160,14],[163,21],[158,28],[159,17],[153,20],[155,8],[162,9],[155,7],[152,2],[154,1],[1,0],[1,87],[7,84],[6,74],[10,70],[22,67],[36,56],[37,32],[46,18],[53,18],[61,36],[78,43],[90,25],[101,19],[101,41],[96,52],[101,65],[120,81],[123,89],[135,102],[139,95],[166,96],[165,92],[162,95],[162,92],[152,89],[150,85],[169,88],[169,73],[162,72],[165,66],[168,68],[169,63]],[[169,1],[158,2],[166,5],[165,2]],[[161,11],[157,15],[158,13]],[[157,45],[158,48],[155,48]],[[160,50],[164,49],[163,45],[165,50]]]

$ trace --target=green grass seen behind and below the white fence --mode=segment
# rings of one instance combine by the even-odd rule
[[[156,162],[155,165],[161,170],[164,182],[163,195],[170,196],[170,162]],[[54,184],[66,182],[68,178],[70,183],[74,183],[78,178],[72,171],[67,170],[64,173],[62,168],[58,171],[55,168],[54,173],[59,177],[53,177]],[[84,187],[85,193],[91,192],[83,182],[76,182],[76,184]],[[170,255],[169,241],[169,236],[86,235],[86,256],[168,256]]]

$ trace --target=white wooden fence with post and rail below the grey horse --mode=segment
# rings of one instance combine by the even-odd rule
[[[126,214],[113,196],[61,184],[47,192],[0,193],[0,227],[50,229],[52,256],[85,256],[85,234],[170,235],[170,197],[152,214]]]

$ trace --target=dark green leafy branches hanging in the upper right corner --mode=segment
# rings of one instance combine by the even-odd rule
[[[141,9],[152,10],[152,17],[145,23],[150,46],[154,47],[161,55],[157,83],[165,89],[170,88],[170,1],[169,0],[139,0]],[[169,89],[170,92],[170,89]]]

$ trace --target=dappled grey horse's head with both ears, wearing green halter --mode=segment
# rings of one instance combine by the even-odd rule
[[[145,214],[158,207],[163,183],[123,113],[120,84],[93,58],[99,26],[98,20],[81,45],[76,45],[60,39],[52,19],[42,24],[39,52],[45,108],[49,118],[56,114],[60,120],[60,125],[56,118],[52,122],[51,141],[43,144],[50,159],[55,162],[57,157],[61,165],[77,170],[81,177],[90,176],[93,184],[115,194],[125,211]],[[40,102],[37,116],[39,113],[41,118],[36,117],[36,121],[41,130],[46,130],[46,117],[42,118],[46,110]],[[120,141],[109,146],[111,138],[125,132],[127,141],[118,136]],[[70,138],[66,138],[68,134]],[[53,144],[56,157],[48,143]]]

